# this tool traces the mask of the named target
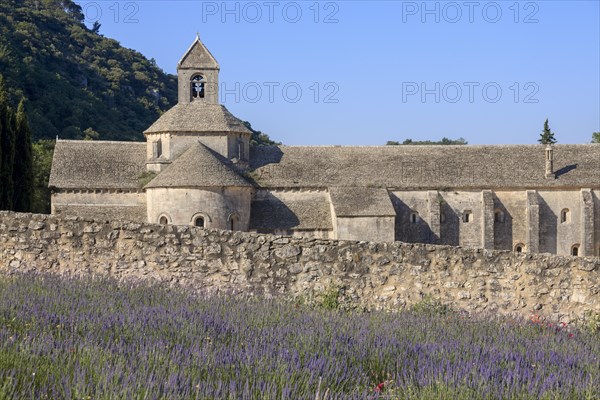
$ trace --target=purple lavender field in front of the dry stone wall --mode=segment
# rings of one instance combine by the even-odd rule
[[[348,313],[0,276],[0,399],[412,398],[598,399],[600,337],[427,305]]]

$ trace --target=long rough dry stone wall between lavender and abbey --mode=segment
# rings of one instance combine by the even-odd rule
[[[0,271],[111,275],[198,292],[401,309],[431,297],[471,312],[573,320],[600,312],[600,259],[333,241],[0,212]]]

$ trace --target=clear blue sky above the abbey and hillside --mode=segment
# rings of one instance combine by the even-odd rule
[[[599,1],[79,1],[170,73],[196,32],[221,102],[290,145],[600,131]],[[223,91],[226,88],[226,93]]]

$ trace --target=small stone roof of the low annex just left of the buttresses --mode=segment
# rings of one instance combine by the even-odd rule
[[[396,211],[386,189],[369,187],[331,187],[331,202],[338,217],[395,216]]]

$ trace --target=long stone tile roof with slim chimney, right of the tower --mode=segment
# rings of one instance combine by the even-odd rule
[[[556,179],[545,178],[545,146],[253,147],[263,187],[445,188],[600,187],[600,145],[555,145]]]

